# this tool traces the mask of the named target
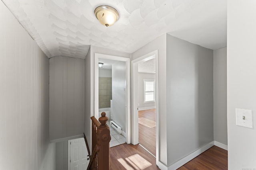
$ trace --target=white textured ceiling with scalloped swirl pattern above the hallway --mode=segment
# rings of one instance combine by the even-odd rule
[[[226,0],[2,0],[50,58],[85,58],[90,45],[132,53],[169,33],[210,49],[226,47]],[[110,27],[94,9],[120,14]]]

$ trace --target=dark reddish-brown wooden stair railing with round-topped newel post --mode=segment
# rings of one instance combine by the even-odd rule
[[[86,147],[88,150],[90,162],[87,170],[109,170],[109,142],[110,129],[107,125],[108,117],[102,112],[99,121],[92,116],[92,155],[90,155],[89,146],[84,135]]]

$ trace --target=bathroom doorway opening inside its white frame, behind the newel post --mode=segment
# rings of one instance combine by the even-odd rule
[[[126,142],[126,66],[124,61],[98,59],[99,62],[99,117],[104,111],[109,118],[110,147]],[[112,100],[113,99],[113,100]]]

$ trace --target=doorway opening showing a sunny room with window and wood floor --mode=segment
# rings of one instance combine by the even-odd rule
[[[139,143],[156,156],[156,59],[138,63]]]

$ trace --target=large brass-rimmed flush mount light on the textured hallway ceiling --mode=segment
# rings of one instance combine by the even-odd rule
[[[94,10],[94,14],[100,23],[106,27],[113,25],[119,18],[116,9],[111,6],[98,6]]]

